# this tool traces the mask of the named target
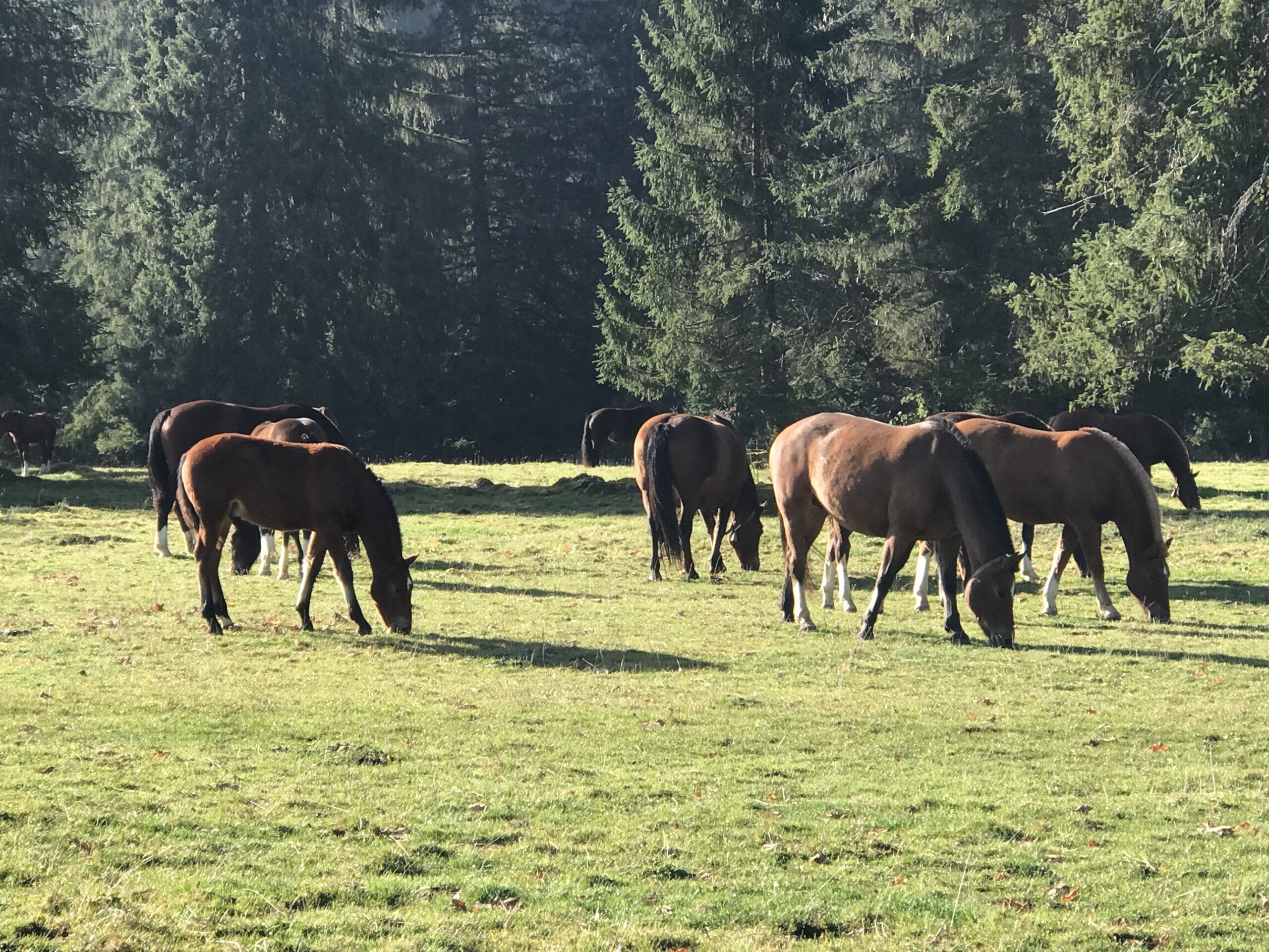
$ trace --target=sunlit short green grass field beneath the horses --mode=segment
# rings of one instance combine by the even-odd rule
[[[628,468],[557,463],[378,467],[411,636],[329,569],[319,631],[226,572],[209,636],[138,470],[4,479],[0,949],[1265,948],[1269,465],[1200,470],[1170,626],[1108,532],[1127,621],[1020,585],[1018,651],[778,623],[770,522],[647,583]]]

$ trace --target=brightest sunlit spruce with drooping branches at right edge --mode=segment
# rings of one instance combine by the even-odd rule
[[[1028,369],[1121,405],[1179,364],[1269,378],[1269,9],[1081,0],[1047,48],[1080,239],[1014,310]]]

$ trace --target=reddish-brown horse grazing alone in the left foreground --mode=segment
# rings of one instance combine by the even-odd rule
[[[371,598],[390,632],[410,633],[412,623],[410,565],[401,555],[401,523],[378,477],[335,443],[278,443],[223,433],[197,443],[178,470],[176,501],[185,524],[197,533],[194,562],[207,631],[218,635],[220,619],[232,627],[221,588],[221,547],[235,517],[279,532],[311,529],[303,579],[296,598],[299,627],[312,631],[308,603],[313,581],[330,552],[344,590],[348,617],[359,635],[371,625],[353,589],[353,566],[343,534],[362,538],[373,579]]]

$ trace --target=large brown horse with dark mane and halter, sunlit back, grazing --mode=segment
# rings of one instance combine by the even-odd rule
[[[947,420],[892,426],[850,414],[817,414],[772,443],[772,487],[784,543],[780,613],[815,631],[806,604],[806,555],[825,518],[845,532],[886,539],[877,588],[859,637],[871,640],[886,594],[917,539],[937,543],[939,575],[953,592],[962,542],[973,569],[964,602],[989,644],[1014,644],[1014,552],[1005,513],[982,461]],[[843,536],[843,539],[845,537]],[[845,553],[839,571],[845,572]],[[970,642],[956,599],[944,602],[952,644]]]

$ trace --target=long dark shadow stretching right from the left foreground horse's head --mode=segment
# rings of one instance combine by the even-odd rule
[[[407,651],[415,655],[448,655],[470,658],[522,668],[572,668],[588,671],[676,671],[726,670],[726,665],[638,649],[603,649],[580,645],[555,645],[549,641],[516,641],[475,635],[374,635],[363,644],[368,647]]]

